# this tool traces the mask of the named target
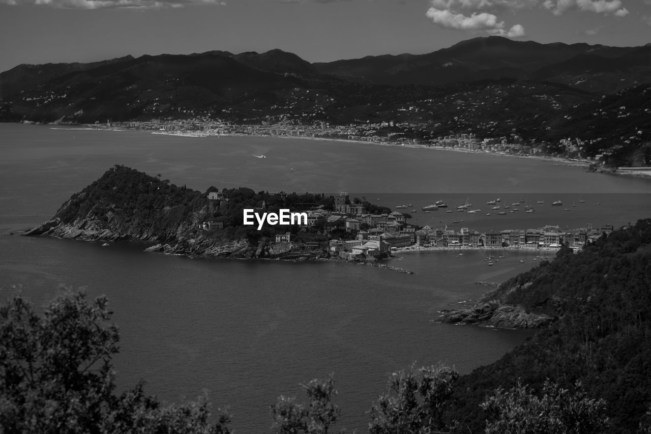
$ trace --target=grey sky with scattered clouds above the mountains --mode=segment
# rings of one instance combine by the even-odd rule
[[[642,46],[651,0],[0,0],[0,71],[274,48],[327,62],[489,35]]]

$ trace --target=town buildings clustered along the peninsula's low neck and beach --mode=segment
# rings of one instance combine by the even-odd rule
[[[411,218],[408,212],[398,211],[372,213],[367,206],[372,207],[365,197],[350,200],[345,192],[331,194],[333,201],[331,209],[324,207],[295,207],[292,211],[303,211],[307,219],[301,224],[290,228],[290,231],[275,233],[276,243],[286,243],[296,250],[305,251],[326,250],[331,258],[348,261],[376,260],[390,257],[392,252],[408,252],[419,250],[464,250],[464,249],[527,249],[527,250],[559,250],[567,246],[580,250],[588,242],[594,242],[604,233],[613,231],[613,225],[585,227],[562,230],[558,225],[546,225],[528,229],[494,229],[491,231],[476,231],[469,227],[450,229],[431,227],[430,225],[414,225],[408,222]],[[208,194],[209,201],[227,201],[219,192]],[[501,208],[500,199],[492,201],[492,205]],[[555,203],[555,205],[562,205]],[[410,207],[411,205],[401,205]],[[506,209],[519,209],[520,203],[503,205]],[[447,208],[445,203],[437,203],[424,207],[429,209]],[[458,210],[467,210],[471,205],[460,205]],[[531,208],[525,207],[523,209]],[[266,209],[264,201],[261,210]],[[411,210],[414,212],[415,210]],[[222,221],[203,222],[201,229],[214,231],[223,229]],[[492,263],[490,263],[492,265]]]

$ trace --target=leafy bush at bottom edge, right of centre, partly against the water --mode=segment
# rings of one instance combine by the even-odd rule
[[[432,434],[445,429],[444,407],[459,378],[447,366],[428,366],[401,370],[391,375],[389,392],[371,408],[370,434]]]

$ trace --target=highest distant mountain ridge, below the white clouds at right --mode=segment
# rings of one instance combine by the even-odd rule
[[[555,70],[555,76],[559,76],[565,73],[561,69],[563,63],[577,55],[594,56],[603,62],[610,59],[611,63],[621,64],[625,62],[620,62],[617,58],[637,49],[639,48],[588,44],[539,44],[533,41],[514,41],[502,36],[488,36],[465,40],[449,48],[422,55],[367,56],[361,59],[315,63],[314,66],[320,72],[363,77],[380,84],[445,85],[458,81],[501,78],[537,79],[536,71],[549,65],[559,65]],[[538,75],[549,77],[549,72]],[[609,81],[621,81],[621,78],[624,78],[626,84],[619,83],[620,87],[616,90],[637,80],[637,76],[632,81],[625,76],[618,76]],[[572,84],[572,80],[573,77],[559,77],[555,81]],[[591,90],[603,89],[595,87]]]

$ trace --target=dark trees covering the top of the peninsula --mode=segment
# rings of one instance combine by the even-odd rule
[[[208,200],[210,192],[219,192],[223,199]],[[390,212],[385,207],[365,203],[372,212]],[[324,194],[297,194],[255,192],[251,188],[223,188],[211,186],[202,193],[186,186],[176,186],[161,175],[152,177],[125,166],[114,166],[89,186],[70,197],[55,217],[63,224],[90,218],[95,224],[109,229],[146,234],[147,238],[167,240],[183,235],[197,235],[199,224],[206,221],[223,222],[223,229],[203,233],[219,239],[241,239],[273,236],[287,231],[287,226],[243,225],[243,209],[260,212],[292,211],[320,207],[332,210],[334,200]],[[264,208],[264,209],[263,209]],[[325,221],[316,227],[323,227]],[[291,226],[297,233],[299,227]]]

